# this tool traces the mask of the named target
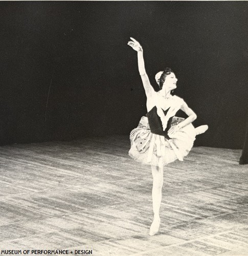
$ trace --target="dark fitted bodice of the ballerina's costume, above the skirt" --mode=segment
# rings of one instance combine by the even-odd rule
[[[164,115],[166,116],[167,112],[169,111],[170,108],[168,108],[167,110],[163,110]],[[167,139],[170,139],[170,137],[168,136],[168,131],[171,127],[171,121],[173,117],[170,117],[167,123],[167,127],[166,130],[163,131],[163,125],[162,125],[162,121],[159,117],[159,115],[157,115],[157,108],[156,106],[154,106],[147,114],[146,114],[147,118],[148,118],[148,123],[150,126],[150,130],[151,133],[157,134],[157,135],[161,135],[164,136]]]

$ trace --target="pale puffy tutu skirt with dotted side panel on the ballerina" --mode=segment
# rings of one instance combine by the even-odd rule
[[[176,159],[183,161],[193,147],[195,136],[195,128],[190,123],[166,139],[151,133],[148,119],[143,116],[138,127],[130,133],[128,154],[140,163],[163,167]]]

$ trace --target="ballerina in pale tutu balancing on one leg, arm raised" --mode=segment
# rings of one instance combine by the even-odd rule
[[[177,78],[170,68],[155,75],[159,91],[154,91],[146,74],[143,49],[136,39],[130,39],[128,46],[138,53],[139,73],[147,97],[147,114],[130,133],[131,148],[128,154],[134,160],[151,166],[154,217],[149,234],[154,236],[160,227],[163,168],[176,159],[183,161],[193,146],[195,136],[207,131],[208,125],[195,128],[192,122],[196,114],[182,98],[171,94],[176,89]],[[176,117],[178,110],[184,111],[188,118]]]

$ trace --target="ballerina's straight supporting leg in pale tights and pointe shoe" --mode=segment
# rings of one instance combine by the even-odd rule
[[[154,219],[150,227],[150,236],[154,236],[159,231],[160,227],[160,205],[162,200],[162,186],[163,186],[163,167],[151,165],[153,185],[152,185],[152,207]]]

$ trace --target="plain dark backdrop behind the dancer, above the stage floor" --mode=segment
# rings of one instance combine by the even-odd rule
[[[128,134],[146,114],[137,54],[209,131],[196,145],[242,148],[248,2],[1,2],[0,142]],[[48,98],[49,94],[49,98]],[[47,100],[48,99],[48,100]]]

